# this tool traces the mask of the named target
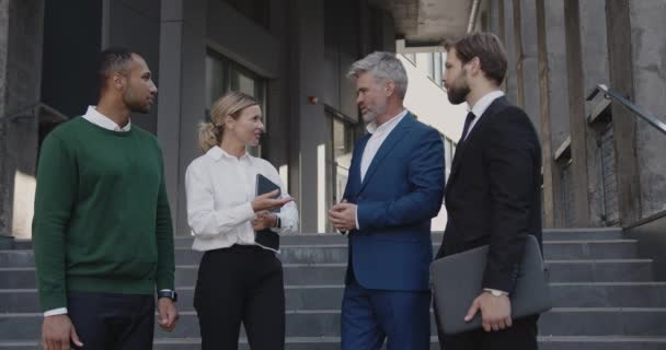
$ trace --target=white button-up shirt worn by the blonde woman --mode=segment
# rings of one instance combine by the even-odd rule
[[[234,244],[257,245],[251,224],[255,218],[252,200],[256,197],[257,174],[279,185],[282,197],[289,197],[275,167],[248,153],[237,158],[216,145],[187,166],[187,223],[194,235],[193,249],[205,252]],[[282,228],[273,231],[284,234],[298,230],[296,203],[288,202],[276,214]]]

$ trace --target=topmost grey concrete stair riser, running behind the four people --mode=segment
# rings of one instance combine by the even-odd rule
[[[439,244],[434,245],[434,252]],[[546,259],[620,259],[635,258],[635,240],[549,241],[543,243]],[[191,248],[176,248],[177,265],[197,265],[202,253]],[[347,261],[346,243],[283,245],[279,258],[285,264],[335,264]],[[0,267],[32,267],[34,254],[30,249],[0,250]]]

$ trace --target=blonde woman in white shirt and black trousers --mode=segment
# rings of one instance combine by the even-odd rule
[[[264,131],[253,97],[231,92],[213,106],[211,121],[199,127],[204,155],[185,175],[187,222],[193,249],[205,252],[194,307],[202,349],[238,349],[241,322],[252,350],[285,347],[285,291],[276,250],[259,245],[255,233],[295,232],[298,212],[271,163],[246,152]],[[282,188],[255,197],[256,175]],[[280,208],[279,213],[272,213]]]

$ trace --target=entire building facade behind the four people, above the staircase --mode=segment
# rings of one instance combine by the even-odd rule
[[[441,89],[441,40],[490,31],[505,43],[504,84],[540,132],[547,228],[631,226],[666,210],[666,137],[598,94],[605,84],[664,121],[664,0],[1,0],[0,232],[30,237],[38,147],[96,100],[95,55],[146,57],[160,93],[133,122],[160,139],[179,235],[196,126],[229,90],[262,101],[259,149],[288,183],[303,232],[330,231],[354,141],[365,132],[349,65],[399,54],[405,105],[441,131],[447,171],[464,106]],[[446,213],[435,221],[441,230]]]

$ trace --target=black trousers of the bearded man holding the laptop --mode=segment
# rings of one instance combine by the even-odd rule
[[[441,350],[537,350],[537,322],[539,316],[529,316],[513,319],[513,326],[500,331],[484,331],[483,329],[445,336],[439,330],[437,312],[437,336]]]

